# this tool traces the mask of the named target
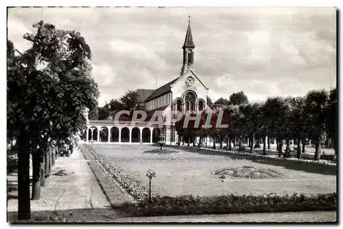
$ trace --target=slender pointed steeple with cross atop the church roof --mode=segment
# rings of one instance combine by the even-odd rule
[[[185,43],[182,46],[183,49],[183,64],[181,68],[181,75],[185,72],[187,68],[193,67],[194,64],[194,48],[196,46],[193,42],[192,32],[191,32],[191,16],[189,16],[188,27],[186,32]]]

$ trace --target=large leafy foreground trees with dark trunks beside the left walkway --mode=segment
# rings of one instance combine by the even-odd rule
[[[32,200],[54,165],[56,152],[71,151],[85,129],[86,107],[97,107],[99,91],[91,77],[91,49],[80,33],[33,25],[23,38],[30,49],[14,55],[8,41],[8,139],[18,146],[19,219],[30,217],[29,155],[32,155]],[[43,172],[42,172],[43,171]]]

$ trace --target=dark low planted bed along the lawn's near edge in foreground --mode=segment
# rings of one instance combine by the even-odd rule
[[[335,211],[336,200],[335,193],[310,197],[296,193],[292,196],[163,196],[154,198],[151,204],[145,199],[138,206],[122,204],[115,208],[131,216]]]

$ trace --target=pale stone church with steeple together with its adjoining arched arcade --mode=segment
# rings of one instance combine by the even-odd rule
[[[195,44],[191,33],[191,22],[189,21],[185,42],[182,46],[182,68],[180,75],[169,83],[151,90],[150,95],[143,103],[147,113],[161,111],[162,116],[168,116],[171,111],[182,113],[202,111],[210,109],[206,104],[209,88],[202,83],[195,68]],[[146,97],[146,96],[145,96]],[[157,142],[159,136],[164,138],[166,144],[176,144],[178,135],[174,123],[164,123],[163,128],[147,126],[147,122],[140,122],[137,126],[130,126],[116,122],[115,120],[88,120],[86,139],[95,142],[118,142],[118,143],[147,143]],[[100,131],[106,129],[105,141],[99,135]],[[125,130],[125,131],[124,131]],[[126,138],[123,139],[123,131]],[[132,139],[135,139],[134,141]]]

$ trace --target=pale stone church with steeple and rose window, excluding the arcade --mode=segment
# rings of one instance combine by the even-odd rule
[[[202,83],[196,73],[195,48],[189,21],[185,42],[182,46],[183,62],[180,76],[157,88],[147,97],[145,105],[148,112],[161,111],[162,116],[166,116],[167,113],[174,110],[187,113],[210,109],[206,105],[209,88]],[[164,126],[161,134],[165,136],[165,142],[177,142],[174,124]]]

